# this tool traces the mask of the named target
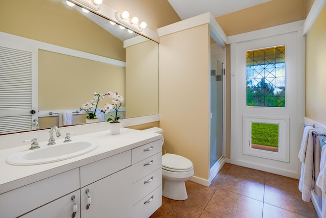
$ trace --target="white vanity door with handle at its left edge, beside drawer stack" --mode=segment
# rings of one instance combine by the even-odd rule
[[[130,169],[131,167],[127,167],[80,189],[80,208],[83,218],[133,217],[130,200]]]

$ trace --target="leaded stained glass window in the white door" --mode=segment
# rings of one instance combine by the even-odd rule
[[[285,45],[246,54],[247,106],[285,107]]]

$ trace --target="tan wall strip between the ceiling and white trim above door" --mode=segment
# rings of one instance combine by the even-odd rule
[[[282,25],[305,16],[305,0],[272,0],[215,17],[227,36]]]

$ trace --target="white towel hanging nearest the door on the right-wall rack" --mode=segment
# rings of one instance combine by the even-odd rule
[[[306,127],[307,128],[307,127]],[[302,192],[302,200],[310,201],[311,191],[314,190],[317,195],[320,195],[320,189],[315,187],[315,180],[319,174],[320,163],[320,143],[319,139],[313,135],[316,130],[312,127],[305,128],[302,141],[302,147],[299,154],[301,166],[301,178],[299,180],[299,190]],[[309,130],[309,131],[308,131]],[[318,140],[315,140],[315,139]]]

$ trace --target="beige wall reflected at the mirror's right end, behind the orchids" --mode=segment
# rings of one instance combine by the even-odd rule
[[[126,48],[126,118],[158,114],[158,44]]]

